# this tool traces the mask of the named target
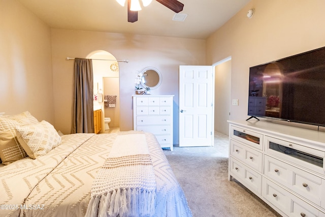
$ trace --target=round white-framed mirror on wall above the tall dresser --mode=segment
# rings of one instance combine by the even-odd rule
[[[150,89],[157,88],[161,83],[160,72],[153,67],[144,68],[141,71],[141,85],[143,87],[150,87]]]

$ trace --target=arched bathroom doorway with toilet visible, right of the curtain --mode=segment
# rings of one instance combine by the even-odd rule
[[[92,59],[94,110],[102,111],[101,133],[116,133],[120,127],[118,61],[103,50],[94,51],[87,58]]]

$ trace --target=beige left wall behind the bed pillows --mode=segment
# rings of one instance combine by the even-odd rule
[[[28,110],[54,124],[50,28],[15,0],[0,0],[0,112]]]

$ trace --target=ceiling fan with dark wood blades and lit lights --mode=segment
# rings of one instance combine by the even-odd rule
[[[121,6],[124,6],[125,0],[116,0]],[[148,6],[152,0],[142,0],[143,6]],[[184,4],[177,0],[156,0],[158,3],[163,4],[175,13],[183,10]],[[138,21],[138,11],[141,10],[139,0],[127,0],[127,21]]]

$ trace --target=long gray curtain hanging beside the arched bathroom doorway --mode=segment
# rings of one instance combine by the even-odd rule
[[[75,58],[72,133],[93,133],[92,60]]]

